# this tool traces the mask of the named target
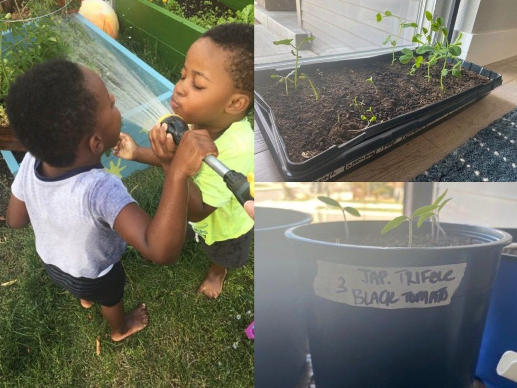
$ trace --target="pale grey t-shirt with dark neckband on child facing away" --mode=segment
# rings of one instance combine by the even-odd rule
[[[74,277],[96,278],[126,249],[113,223],[134,199],[100,164],[57,178],[40,175],[39,165],[27,152],[11,187],[25,202],[39,256]]]

